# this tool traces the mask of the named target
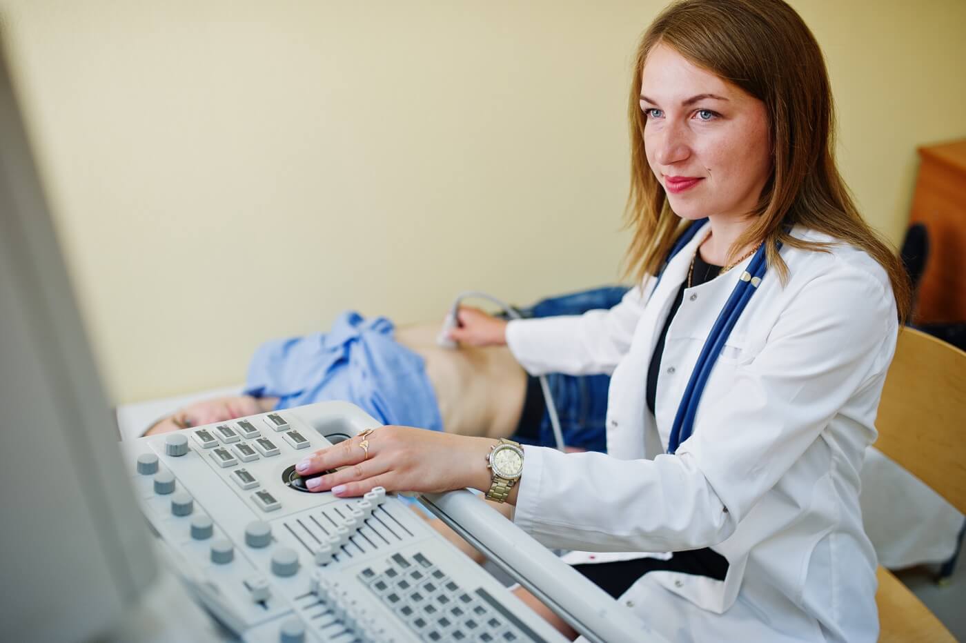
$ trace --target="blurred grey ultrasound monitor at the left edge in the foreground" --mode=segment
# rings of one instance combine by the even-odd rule
[[[11,641],[88,640],[156,576],[0,46],[0,601]]]

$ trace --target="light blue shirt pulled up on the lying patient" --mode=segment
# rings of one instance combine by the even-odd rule
[[[393,338],[384,317],[342,313],[327,333],[272,340],[252,357],[245,394],[277,397],[277,408],[342,400],[383,424],[442,431],[423,359]]]

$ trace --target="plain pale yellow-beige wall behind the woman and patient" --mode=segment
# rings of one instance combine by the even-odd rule
[[[630,56],[663,4],[0,0],[116,399],[240,381],[345,308],[614,281]],[[966,136],[966,3],[793,4],[843,174],[898,240],[916,146]]]

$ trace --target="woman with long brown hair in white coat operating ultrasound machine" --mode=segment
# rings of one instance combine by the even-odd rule
[[[608,455],[384,427],[299,470],[340,496],[505,499],[544,545],[605,552],[578,569],[670,640],[874,641],[859,470],[909,294],[838,175],[818,45],[781,0],[673,4],[630,123],[639,288],[453,331],[533,375],[612,372]]]

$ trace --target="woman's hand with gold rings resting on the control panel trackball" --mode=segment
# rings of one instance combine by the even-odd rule
[[[363,495],[375,487],[419,492],[486,490],[490,488],[487,458],[495,443],[487,437],[390,425],[320,449],[298,462],[296,470],[309,490],[331,490],[340,497]]]

